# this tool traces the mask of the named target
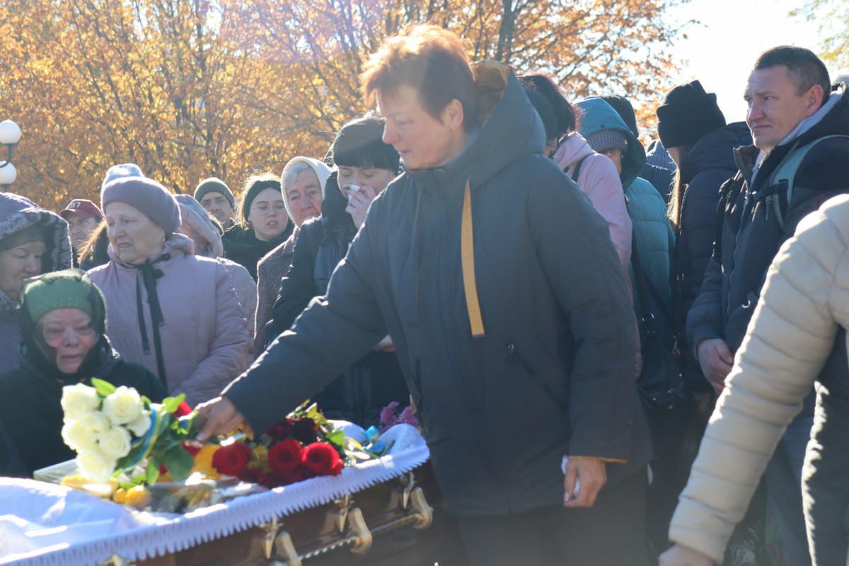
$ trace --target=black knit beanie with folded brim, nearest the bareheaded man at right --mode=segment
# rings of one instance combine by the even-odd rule
[[[699,81],[678,85],[657,109],[657,135],[665,148],[692,145],[706,133],[725,126],[717,95],[705,92]]]

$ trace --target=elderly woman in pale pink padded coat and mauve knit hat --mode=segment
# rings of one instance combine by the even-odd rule
[[[124,177],[101,193],[110,262],[89,275],[104,292],[115,349],[189,405],[218,395],[250,358],[250,333],[227,268],[194,255],[177,201],[160,183]]]

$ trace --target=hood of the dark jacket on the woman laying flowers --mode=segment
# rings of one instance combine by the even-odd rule
[[[543,153],[545,129],[509,65],[494,61],[471,64],[477,87],[478,129],[461,154],[447,165],[408,171],[427,187],[480,187],[505,166],[528,154]],[[461,189],[463,187],[460,187]]]

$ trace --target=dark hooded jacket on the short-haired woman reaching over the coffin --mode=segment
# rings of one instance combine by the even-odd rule
[[[610,462],[615,485],[651,446],[607,222],[543,156],[543,125],[509,67],[473,70],[480,132],[374,200],[327,297],[223,394],[266,430],[389,333],[453,512],[521,513],[562,505],[564,455]],[[478,338],[461,261],[467,183]]]

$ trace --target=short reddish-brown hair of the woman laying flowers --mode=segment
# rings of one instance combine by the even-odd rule
[[[413,87],[427,113],[439,120],[455,98],[463,105],[463,128],[477,121],[475,80],[463,42],[436,25],[416,25],[404,35],[386,40],[368,58],[360,88],[367,104],[375,92],[392,96],[402,85]]]

